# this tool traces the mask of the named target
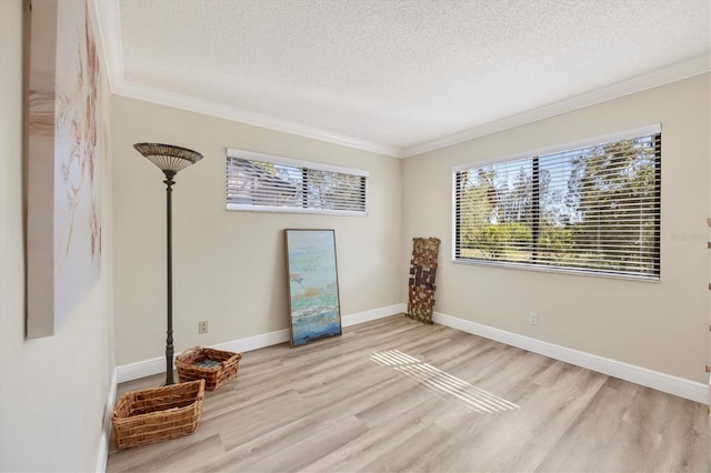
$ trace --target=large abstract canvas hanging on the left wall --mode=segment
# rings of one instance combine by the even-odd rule
[[[101,70],[90,4],[26,2],[27,335],[52,335],[100,275]]]

